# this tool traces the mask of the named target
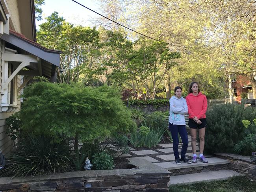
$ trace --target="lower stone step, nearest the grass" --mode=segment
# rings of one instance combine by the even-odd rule
[[[219,170],[219,171],[209,171],[202,172],[196,174],[187,174],[187,175],[176,175],[171,176],[168,185],[175,184],[191,184],[191,183],[199,183],[202,181],[217,181],[217,180],[225,180],[230,177],[239,176],[243,174],[239,174],[232,170]]]

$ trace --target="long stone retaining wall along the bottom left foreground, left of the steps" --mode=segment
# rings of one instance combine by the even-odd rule
[[[0,178],[2,192],[168,192],[171,172],[148,161],[132,162],[136,168],[90,170],[43,177]]]

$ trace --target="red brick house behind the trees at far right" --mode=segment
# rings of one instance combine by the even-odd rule
[[[246,76],[233,74],[231,75],[231,81],[233,97],[237,101],[241,101],[242,98],[253,99],[252,85]]]

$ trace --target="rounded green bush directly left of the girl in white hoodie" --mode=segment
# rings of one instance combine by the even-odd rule
[[[169,114],[169,112],[168,112]],[[150,113],[146,116],[145,124],[148,127],[152,127],[154,129],[166,129],[168,126],[168,123],[166,122],[167,119],[167,113],[156,111],[153,113]]]

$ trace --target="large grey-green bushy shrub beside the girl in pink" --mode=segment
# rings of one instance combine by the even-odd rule
[[[207,111],[207,127],[205,138],[205,151],[208,153],[232,153],[234,144],[246,135],[242,120],[251,122],[256,116],[256,111],[244,105],[213,105]],[[244,121],[245,122],[245,121]]]

